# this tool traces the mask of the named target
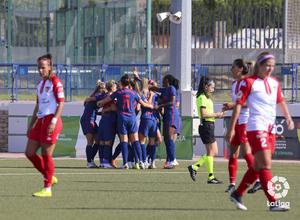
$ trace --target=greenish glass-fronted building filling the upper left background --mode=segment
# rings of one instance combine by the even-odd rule
[[[0,62],[145,63],[146,0],[1,0]]]

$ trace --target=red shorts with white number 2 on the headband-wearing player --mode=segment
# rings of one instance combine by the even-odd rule
[[[248,131],[247,137],[253,154],[263,150],[271,150],[271,153],[274,153],[276,142],[275,134],[268,131]]]

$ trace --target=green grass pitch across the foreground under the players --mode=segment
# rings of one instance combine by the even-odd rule
[[[225,183],[206,184],[205,168],[193,182],[192,162],[180,161],[174,170],[87,169],[84,160],[56,160],[58,185],[52,198],[33,198],[42,177],[25,159],[0,160],[0,219],[300,219],[300,164],[273,163],[273,175],[286,177],[291,210],[271,213],[262,191],[244,196],[248,211],[238,211],[224,192],[227,163],[215,164],[215,176]],[[162,162],[158,162],[162,167]],[[246,169],[239,163],[238,182]]]

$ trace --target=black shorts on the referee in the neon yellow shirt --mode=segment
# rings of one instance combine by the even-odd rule
[[[199,125],[198,132],[203,144],[211,144],[216,141],[214,122],[203,121],[202,125]]]

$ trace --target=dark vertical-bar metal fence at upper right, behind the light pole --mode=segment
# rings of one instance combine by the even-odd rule
[[[155,13],[169,11],[166,6],[158,3]],[[283,48],[283,9],[284,1],[226,1],[210,7],[194,0],[192,48]],[[170,24],[155,17],[152,24],[153,47],[170,47]]]

